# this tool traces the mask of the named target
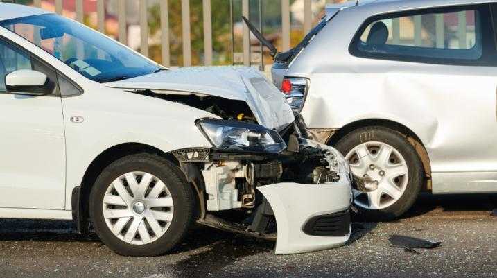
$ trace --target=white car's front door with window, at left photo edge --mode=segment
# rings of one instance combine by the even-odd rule
[[[5,76],[19,69],[45,73],[53,92],[8,92]],[[56,78],[51,68],[0,37],[0,208],[64,209],[64,123]]]

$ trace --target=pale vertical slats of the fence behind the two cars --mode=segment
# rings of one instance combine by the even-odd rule
[[[53,0],[55,6],[55,12],[62,15],[64,0]],[[83,22],[84,11],[83,11],[83,0],[75,1],[75,12],[77,21]],[[140,40],[141,47],[140,51],[143,55],[148,56],[148,11],[147,11],[147,0],[137,0],[139,1],[139,25],[141,28]],[[190,66],[192,64],[191,60],[191,20],[190,20],[190,1],[189,0],[169,0],[169,1],[181,1],[181,14],[182,14],[182,52],[183,52],[183,65]],[[261,5],[259,0],[259,6]],[[302,9],[304,10],[304,33],[307,33],[311,29],[313,22],[313,15],[311,11],[311,5],[313,0],[303,0]],[[5,1],[5,2],[15,2],[15,1]],[[233,0],[227,0],[227,5],[233,6]],[[269,2],[269,3],[268,3]],[[274,3],[274,2],[273,2]],[[169,26],[169,3],[168,0],[160,0],[160,26],[162,29],[161,35],[161,55],[162,64],[166,67],[171,66],[171,53],[170,53],[170,26]],[[265,5],[271,5],[270,1],[265,1]],[[126,1],[119,0],[116,1],[117,5],[117,19],[119,22],[119,35],[118,40],[126,44],[127,29],[126,29]],[[249,17],[249,0],[241,0],[242,14],[245,17]],[[42,0],[34,0],[33,6],[42,7]],[[104,0],[96,0],[96,14],[97,14],[97,29],[98,31],[105,33],[105,3]],[[202,0],[202,18],[203,18],[203,37],[204,37],[204,65],[211,65],[213,63],[213,47],[212,47],[212,24],[211,24],[211,9],[216,7],[211,7],[211,0]],[[229,15],[232,16],[232,15]],[[260,16],[260,15],[259,15]],[[261,18],[261,17],[259,17]],[[232,23],[233,23],[233,19]],[[233,28],[232,28],[233,30]],[[232,34],[233,37],[233,34]],[[232,46],[232,56],[235,54]],[[290,0],[281,0],[281,50],[285,51],[290,49]],[[251,44],[250,44],[250,33],[248,28],[243,26],[243,57],[242,63],[244,65],[251,64]],[[232,59],[233,61],[234,59]],[[261,59],[261,64],[263,64],[263,59]]]

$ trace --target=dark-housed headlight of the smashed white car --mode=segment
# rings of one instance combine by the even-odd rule
[[[279,153],[286,148],[278,132],[261,125],[220,119],[198,119],[195,123],[217,150]]]

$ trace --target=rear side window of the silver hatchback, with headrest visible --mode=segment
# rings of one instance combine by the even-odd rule
[[[370,19],[353,42],[361,57],[412,62],[471,62],[484,54],[478,7],[425,10]]]

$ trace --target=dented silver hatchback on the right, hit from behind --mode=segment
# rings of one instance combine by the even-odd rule
[[[496,1],[349,1],[276,56],[311,136],[371,178],[368,217],[401,216],[420,190],[497,192],[496,22]]]

